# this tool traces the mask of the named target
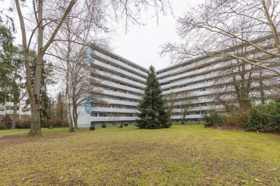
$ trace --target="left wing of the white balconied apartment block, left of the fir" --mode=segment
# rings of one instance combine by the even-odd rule
[[[89,50],[89,63],[94,69],[92,78],[99,82],[96,85],[99,99],[80,108],[79,127],[103,122],[109,125],[134,124],[148,69],[97,47]]]

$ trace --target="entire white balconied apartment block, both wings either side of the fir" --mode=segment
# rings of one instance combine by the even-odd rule
[[[269,38],[264,38],[260,42],[269,42],[267,40]],[[237,49],[226,50],[233,52]],[[249,47],[246,50],[248,51],[246,55],[263,57],[263,54],[254,52]],[[271,61],[275,60],[279,59],[271,59]],[[228,73],[227,69],[237,63],[236,59],[230,57],[198,57],[156,71],[162,94],[164,96],[179,95],[178,101],[174,103],[173,122],[181,122],[182,112],[179,105],[183,104],[180,101],[182,95],[192,100],[189,103],[190,110],[186,115],[187,122],[200,122],[202,115],[208,113],[209,110],[223,110],[223,103],[216,100],[216,94],[217,92],[225,94],[225,100],[228,101],[232,99],[235,89],[230,82],[231,72]],[[104,102],[92,101],[86,103],[85,108],[80,108],[79,127],[89,127],[90,123],[99,125],[102,122],[134,124],[137,118],[135,115],[138,111],[137,105],[144,94],[148,69],[100,48],[92,48],[90,64],[99,74],[94,78],[103,79],[98,89],[101,91]],[[246,64],[245,69],[250,70],[250,66]],[[254,68],[251,71],[251,87],[253,88],[250,90],[250,97],[253,101],[259,102],[260,74],[258,69]],[[232,71],[232,73],[238,72]],[[269,71],[262,71],[262,78],[265,97],[269,99],[269,96],[278,94],[272,87],[280,83],[279,78]]]

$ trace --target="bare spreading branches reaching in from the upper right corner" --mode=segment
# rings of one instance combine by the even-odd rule
[[[209,0],[191,8],[178,23],[185,42],[167,43],[162,48],[162,55],[168,53],[173,62],[201,56],[232,57],[280,75],[278,0]],[[244,37],[244,33],[250,34]],[[252,58],[225,50],[232,47],[232,41],[267,57]]]

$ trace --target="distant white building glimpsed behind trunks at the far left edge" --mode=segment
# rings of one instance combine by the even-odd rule
[[[20,89],[20,103],[18,103],[17,114],[19,117],[22,116],[31,116],[30,106],[26,104],[28,99],[28,94],[26,89]],[[13,115],[13,98],[11,94],[8,94],[8,99],[3,104],[0,104],[0,117],[3,115]]]

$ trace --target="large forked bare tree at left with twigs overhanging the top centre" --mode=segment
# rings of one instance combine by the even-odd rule
[[[25,1],[22,1],[23,3]],[[73,7],[92,4],[99,11],[92,12],[92,15],[104,15],[105,19],[113,17],[114,20],[125,20],[125,28],[128,28],[129,23],[140,23],[139,15],[141,10],[148,7],[155,8],[155,13],[165,13],[165,7],[169,6],[167,0],[107,0],[107,1],[89,1],[89,0],[50,0],[32,1],[33,10],[27,15],[22,14],[22,5],[20,0],[15,0],[18,17],[20,20],[20,29],[22,34],[22,46],[24,53],[25,69],[26,69],[26,83],[27,92],[29,94],[31,106],[31,130],[29,136],[41,135],[40,125],[40,86],[41,76],[43,71],[43,57],[55,41],[58,31],[67,20],[69,13]],[[27,17],[30,15],[29,17]],[[71,20],[71,17],[69,17]],[[28,26],[27,26],[28,25]],[[97,25],[102,27],[102,25]],[[28,28],[28,29],[27,29]],[[29,34],[30,33],[30,34]],[[29,38],[28,38],[29,36]],[[35,43],[32,41],[36,41]],[[36,71],[34,78],[34,85],[31,84],[31,69],[29,62],[29,50],[37,48],[35,59]]]

